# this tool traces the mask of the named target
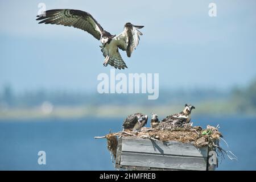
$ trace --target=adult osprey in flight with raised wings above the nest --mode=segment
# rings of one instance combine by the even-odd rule
[[[102,43],[100,48],[105,57],[103,65],[106,67],[110,64],[118,69],[127,68],[118,48],[126,51],[127,56],[131,57],[131,53],[139,44],[139,35],[142,35],[138,28],[144,27],[126,23],[123,32],[116,36],[104,30],[96,19],[85,11],[70,9],[48,10],[37,17],[39,18],[36,20],[41,20],[39,23],[62,24],[88,32]]]

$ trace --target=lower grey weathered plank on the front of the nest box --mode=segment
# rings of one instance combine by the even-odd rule
[[[122,152],[121,166],[206,170],[207,158]]]

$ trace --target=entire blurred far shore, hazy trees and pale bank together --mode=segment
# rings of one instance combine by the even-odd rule
[[[121,117],[141,111],[154,111],[164,117],[183,109],[185,103],[196,106],[195,114],[256,115],[256,80],[243,89],[160,90],[158,100],[143,94],[82,94],[68,92],[26,92],[14,94],[6,86],[0,94],[0,119]]]

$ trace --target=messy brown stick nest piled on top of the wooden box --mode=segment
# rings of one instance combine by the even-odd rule
[[[117,133],[109,133],[104,137],[94,137],[94,138],[106,138],[108,141],[108,150],[112,155],[112,159],[115,160],[117,156],[117,137],[135,137],[144,138],[150,140],[160,140],[160,141],[177,141],[177,142],[193,142],[196,147],[208,146],[210,150],[217,152],[218,156],[224,158],[225,155],[229,159],[237,159],[237,157],[231,152],[222,149],[219,145],[220,139],[224,140],[220,131],[218,131],[219,126],[213,127],[208,125],[206,129],[202,129],[200,126],[193,127],[191,123],[185,124],[183,127],[172,127],[165,129],[153,129],[148,127],[143,127],[141,131],[134,132],[131,130],[123,130]],[[226,141],[224,140],[226,143]],[[226,143],[228,146],[228,143]]]

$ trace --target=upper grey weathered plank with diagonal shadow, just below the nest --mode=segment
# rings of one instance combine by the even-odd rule
[[[208,147],[198,148],[193,143],[163,142],[131,137],[122,138],[122,151],[196,157],[208,156]]]

